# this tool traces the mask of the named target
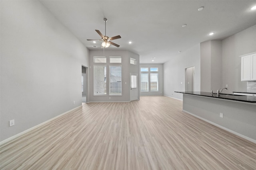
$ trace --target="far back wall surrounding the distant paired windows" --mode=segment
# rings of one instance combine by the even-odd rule
[[[140,64],[141,67],[158,67],[158,92],[140,92],[140,96],[162,96],[164,91],[164,75],[163,75],[164,64]],[[150,78],[150,75],[148,75]],[[140,77],[140,74],[139,74]],[[140,82],[140,81],[139,81]],[[140,87],[140,86],[139,86]]]

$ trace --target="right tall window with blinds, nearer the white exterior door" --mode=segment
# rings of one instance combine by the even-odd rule
[[[122,95],[122,66],[109,66],[109,95]]]

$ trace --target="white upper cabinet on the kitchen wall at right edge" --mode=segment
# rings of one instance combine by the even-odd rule
[[[256,81],[256,52],[240,57],[241,81]]]

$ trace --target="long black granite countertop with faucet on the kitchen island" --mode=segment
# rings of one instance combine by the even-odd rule
[[[176,92],[176,93],[192,94],[192,95],[196,95],[196,96],[205,96],[205,97],[210,97],[210,98],[256,103],[256,96],[242,96],[242,95],[235,95],[235,94],[220,94],[220,96],[217,96],[216,93],[211,94],[210,92]]]

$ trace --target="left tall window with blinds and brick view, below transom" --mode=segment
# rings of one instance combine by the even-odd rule
[[[106,95],[106,66],[94,66],[94,95]]]

